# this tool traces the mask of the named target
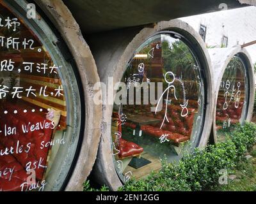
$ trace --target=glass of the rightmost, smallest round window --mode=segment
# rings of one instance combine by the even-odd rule
[[[219,141],[225,139],[237,123],[243,124],[247,114],[248,80],[246,65],[237,54],[228,63],[223,74],[216,106],[216,132]]]

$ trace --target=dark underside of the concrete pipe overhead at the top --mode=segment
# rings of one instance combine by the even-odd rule
[[[83,33],[152,24],[223,8],[246,6],[237,0],[63,0]],[[222,6],[224,5],[224,6]]]

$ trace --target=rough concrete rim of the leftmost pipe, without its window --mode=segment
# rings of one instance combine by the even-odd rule
[[[93,102],[95,95],[93,85],[99,82],[99,75],[90,48],[67,6],[61,0],[35,0],[35,2],[61,33],[76,61],[83,84],[86,111],[83,143],[72,177],[65,189],[65,191],[82,191],[83,182],[92,171],[99,147],[102,106]]]

